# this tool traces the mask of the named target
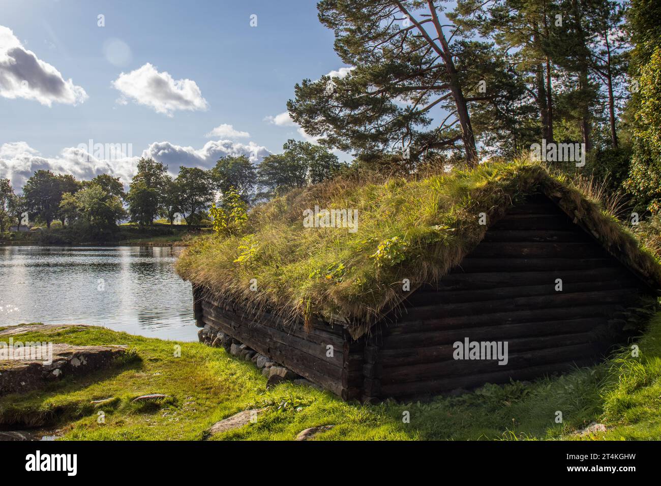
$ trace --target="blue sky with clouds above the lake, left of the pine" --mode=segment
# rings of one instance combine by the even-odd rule
[[[102,27],[98,15],[104,16]],[[2,91],[0,77],[0,177],[16,186],[41,168],[85,178],[104,168],[129,175],[129,159],[76,165],[65,149],[89,139],[131,143],[134,157],[164,142],[149,153],[161,155],[173,170],[178,160],[204,165],[251,142],[253,159],[266,153],[260,147],[281,151],[288,138],[304,138],[282,117],[276,119],[280,124],[266,117],[286,111],[295,83],[343,66],[311,0],[0,0],[0,26],[0,42],[8,42],[11,30],[21,54],[32,53],[46,71],[48,65],[59,71],[58,83],[71,79],[68,99],[26,99],[17,97],[16,87]],[[0,69],[2,61],[0,45]],[[113,85],[121,73],[124,83]],[[151,83],[155,77],[171,83],[166,91],[181,89],[184,102],[159,106],[148,93],[131,91],[136,80]],[[172,93],[162,94],[167,99]],[[140,104],[145,99],[151,104]],[[223,124],[249,136],[206,136]],[[221,133],[230,132],[225,127]],[[231,143],[204,150],[218,140]]]

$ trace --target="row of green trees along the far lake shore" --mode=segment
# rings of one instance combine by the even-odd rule
[[[235,206],[238,200],[247,208],[292,188],[321,182],[346,167],[319,145],[288,140],[283,148],[258,165],[245,155],[227,155],[208,170],[181,166],[176,177],[165,164],[141,158],[128,190],[110,174],[79,181],[69,174],[39,170],[19,194],[9,179],[0,179],[0,233],[33,223],[50,229],[58,222],[61,227],[100,235],[112,233],[124,220],[149,227],[159,218],[171,225],[185,222],[190,228],[208,218],[212,205]]]

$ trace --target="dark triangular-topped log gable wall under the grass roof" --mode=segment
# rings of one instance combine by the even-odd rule
[[[555,290],[557,278],[562,292]],[[365,346],[364,395],[402,399],[595,362],[644,292],[551,200],[512,208],[460,266],[414,292]],[[508,364],[455,360],[453,343],[507,341]]]

